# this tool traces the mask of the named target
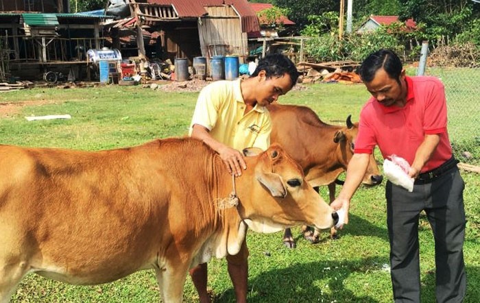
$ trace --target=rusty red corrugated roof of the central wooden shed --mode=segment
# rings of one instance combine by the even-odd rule
[[[196,18],[207,14],[205,6],[232,5],[241,16],[243,32],[260,30],[259,19],[247,0],[147,0],[148,3],[173,5],[180,18]]]

